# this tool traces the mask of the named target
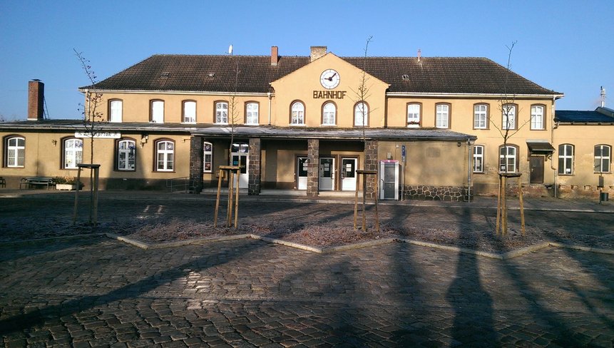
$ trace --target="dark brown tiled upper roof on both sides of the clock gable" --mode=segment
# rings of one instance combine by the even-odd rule
[[[509,94],[561,94],[538,86],[487,58],[342,59],[359,68],[364,66],[367,73],[389,83],[389,92],[501,94],[507,89]],[[96,87],[111,91],[232,92],[237,63],[237,92],[267,93],[269,83],[307,65],[309,57],[280,56],[277,66],[272,66],[270,56],[155,55],[106,78]]]

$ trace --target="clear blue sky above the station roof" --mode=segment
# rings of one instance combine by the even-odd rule
[[[614,1],[13,1],[0,0],[0,116],[26,118],[27,83],[45,83],[51,118],[79,118],[88,84],[155,53],[481,56],[565,93],[558,109],[614,106]]]

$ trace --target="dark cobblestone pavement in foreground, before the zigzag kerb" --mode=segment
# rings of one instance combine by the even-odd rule
[[[0,245],[5,347],[612,347],[614,257],[392,243]]]

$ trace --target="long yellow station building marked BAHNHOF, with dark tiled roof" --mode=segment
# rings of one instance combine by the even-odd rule
[[[339,57],[324,46],[309,56],[275,46],[270,56],[155,55],[79,90],[101,95],[93,143],[82,121],[44,119],[44,85],[30,81],[28,120],[0,124],[7,187],[93,162],[102,188],[183,180],[198,193],[231,162],[250,195],[354,191],[359,169],[377,170],[368,190],[377,184],[382,199],[493,194],[500,171],[522,173],[530,195],[583,195],[597,192],[598,159],[605,189],[614,185],[611,127],[574,131],[579,116],[556,116],[562,93],[487,58]],[[600,126],[614,124],[608,110],[595,111]]]

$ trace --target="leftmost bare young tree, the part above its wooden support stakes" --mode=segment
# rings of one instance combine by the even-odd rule
[[[96,83],[97,77],[96,73],[92,70],[90,66],[90,61],[83,56],[82,52],[77,51],[73,48],[75,52],[75,56],[78,58],[79,63],[81,63],[81,68],[86,73],[88,80],[91,85],[86,89],[85,92],[85,101],[84,103],[79,103],[78,110],[81,111],[83,115],[83,128],[85,129],[85,133],[90,138],[90,160],[89,163],[93,163],[94,158],[94,138],[101,130],[101,125],[104,121],[103,113],[99,110],[101,103],[103,101],[102,93],[96,91]]]

